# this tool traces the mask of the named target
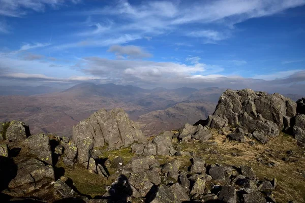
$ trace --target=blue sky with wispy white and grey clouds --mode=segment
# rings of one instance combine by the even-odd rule
[[[304,0],[0,5],[0,85],[89,81],[304,93]]]

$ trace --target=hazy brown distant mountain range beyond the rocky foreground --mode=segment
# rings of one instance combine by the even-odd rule
[[[71,136],[72,126],[93,112],[123,108],[144,133],[179,128],[205,119],[215,109],[224,88],[181,87],[143,89],[132,85],[81,83],[67,90],[38,87],[1,89],[0,121],[23,120],[33,133],[55,132]],[[301,98],[299,95],[286,95]]]

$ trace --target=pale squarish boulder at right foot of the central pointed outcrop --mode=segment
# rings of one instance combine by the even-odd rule
[[[161,156],[175,155],[176,150],[174,150],[171,144],[171,138],[168,136],[163,136],[159,134],[153,140],[153,144],[157,146],[157,154]]]

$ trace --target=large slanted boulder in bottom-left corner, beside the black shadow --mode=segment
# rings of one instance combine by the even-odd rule
[[[11,196],[24,196],[50,184],[54,180],[52,166],[45,165],[37,159],[21,159],[17,163],[17,167],[17,175],[9,183],[9,190],[5,192]]]

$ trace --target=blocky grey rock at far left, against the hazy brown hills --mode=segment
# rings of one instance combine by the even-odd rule
[[[4,134],[4,139],[9,141],[24,140],[29,136],[28,125],[23,121],[11,121]]]

